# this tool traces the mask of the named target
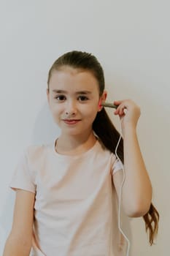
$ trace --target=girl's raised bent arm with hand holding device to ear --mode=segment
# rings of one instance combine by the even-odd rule
[[[117,103],[117,102],[116,102]],[[122,118],[124,143],[125,182],[122,190],[122,203],[125,214],[129,217],[141,217],[147,213],[152,200],[152,185],[147,174],[139,141],[136,135],[136,124],[140,116],[139,108],[130,100],[118,102],[115,111]],[[123,109],[126,108],[126,113]],[[114,184],[119,195],[123,173],[114,175]]]

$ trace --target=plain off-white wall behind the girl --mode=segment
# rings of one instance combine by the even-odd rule
[[[0,1],[0,255],[12,223],[8,184],[23,148],[58,135],[47,106],[47,72],[68,50],[97,56],[109,99],[131,98],[142,109],[139,141],[161,214],[156,244],[142,218],[131,220],[131,256],[168,255],[170,34],[169,1]],[[110,112],[109,112],[110,113]],[[117,117],[112,117],[119,128]]]

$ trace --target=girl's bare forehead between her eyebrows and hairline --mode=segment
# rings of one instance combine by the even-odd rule
[[[50,77],[50,87],[54,89],[58,88],[58,86],[98,90],[98,80],[89,70],[63,66],[58,70],[53,70]]]

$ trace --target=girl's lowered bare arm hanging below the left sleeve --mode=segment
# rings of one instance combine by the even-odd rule
[[[17,189],[12,230],[3,256],[28,256],[31,251],[35,194]]]

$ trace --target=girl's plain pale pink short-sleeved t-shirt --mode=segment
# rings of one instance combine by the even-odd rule
[[[122,163],[98,140],[77,156],[58,154],[54,143],[28,146],[10,187],[35,193],[31,255],[125,255],[125,244],[119,249],[112,182],[121,169]]]

